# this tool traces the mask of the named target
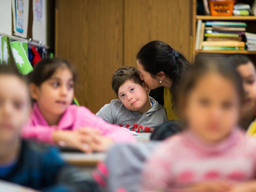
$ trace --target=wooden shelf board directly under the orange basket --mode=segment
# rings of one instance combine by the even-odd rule
[[[196,19],[201,20],[256,20],[255,16],[208,16],[196,15]]]

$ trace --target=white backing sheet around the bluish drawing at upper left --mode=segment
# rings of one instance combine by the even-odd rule
[[[13,15],[13,31],[14,35],[27,38],[28,36],[28,11],[29,11],[29,0],[23,0],[23,32],[20,33],[16,29],[16,17],[15,17],[15,0],[12,0],[12,15]]]

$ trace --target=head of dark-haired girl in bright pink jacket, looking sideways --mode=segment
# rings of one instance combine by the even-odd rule
[[[43,114],[61,115],[71,104],[76,74],[64,59],[40,60],[29,76],[29,91]]]

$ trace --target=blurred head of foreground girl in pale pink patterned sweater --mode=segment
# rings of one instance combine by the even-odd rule
[[[230,63],[199,56],[183,82],[180,97],[188,127],[204,140],[218,142],[236,127],[244,90]]]

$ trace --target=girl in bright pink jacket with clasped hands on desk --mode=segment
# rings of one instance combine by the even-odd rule
[[[23,137],[78,148],[104,151],[113,142],[131,142],[127,130],[111,125],[85,107],[71,105],[76,74],[63,59],[44,59],[30,74],[29,90],[35,101]]]

